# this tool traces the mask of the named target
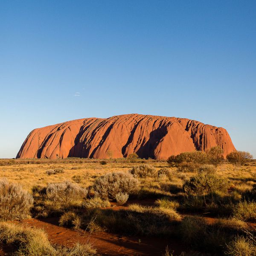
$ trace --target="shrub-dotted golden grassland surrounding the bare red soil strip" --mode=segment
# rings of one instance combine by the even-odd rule
[[[54,255],[95,254],[88,244],[56,247],[45,233],[42,247],[30,249],[41,231],[4,221],[31,215],[54,217],[60,226],[90,236],[105,232],[180,239],[182,255],[186,251],[189,255],[255,255],[256,161],[236,166],[221,160],[213,167],[206,165],[205,154],[182,157],[171,157],[168,163],[137,157],[0,160],[0,179],[5,179],[1,181],[0,212],[7,211],[2,211],[0,242],[14,243],[19,248],[16,255],[35,249],[42,251],[37,255],[52,255],[44,250]],[[8,211],[16,209],[8,203],[8,189],[22,192],[14,199],[24,206],[12,218],[6,218]]]

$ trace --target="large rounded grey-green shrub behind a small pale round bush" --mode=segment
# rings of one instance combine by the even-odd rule
[[[93,184],[95,195],[102,199],[115,199],[116,194],[135,193],[138,190],[139,182],[130,173],[112,172],[98,177]]]

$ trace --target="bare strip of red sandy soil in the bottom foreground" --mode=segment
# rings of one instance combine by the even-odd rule
[[[167,245],[169,249],[174,250],[177,255],[180,255],[182,249],[185,248],[178,240],[170,241],[163,238],[118,236],[105,232],[93,234],[84,232],[79,234],[69,228],[59,227],[58,218],[26,219],[21,221],[21,223],[44,229],[52,244],[72,247],[76,242],[81,244],[90,242],[97,249],[97,252],[102,255],[161,256],[165,252]],[[6,249],[8,248],[5,248],[5,251]]]

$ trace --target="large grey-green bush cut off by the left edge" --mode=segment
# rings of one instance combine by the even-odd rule
[[[20,185],[0,180],[0,219],[14,220],[29,216],[33,197]]]

